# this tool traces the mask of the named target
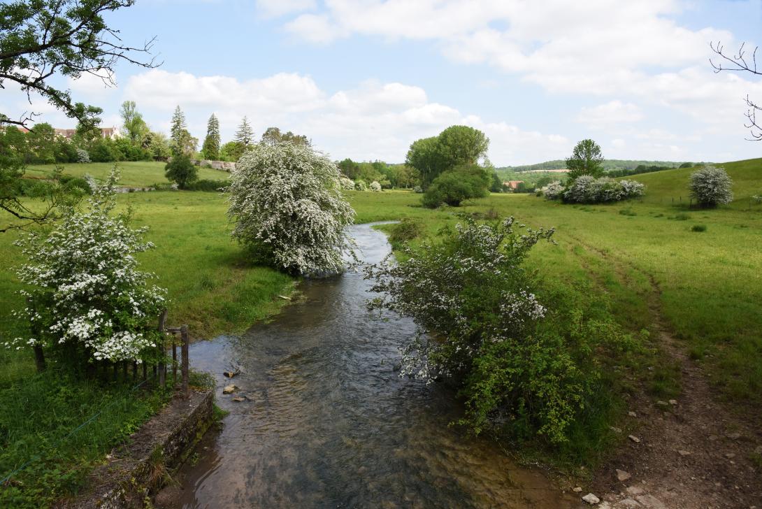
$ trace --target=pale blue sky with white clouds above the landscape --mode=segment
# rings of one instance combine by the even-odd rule
[[[331,158],[404,162],[415,139],[453,124],[490,139],[496,166],[566,158],[596,140],[607,158],[725,162],[754,158],[744,98],[762,79],[715,73],[709,43],[762,43],[762,1],[137,0],[110,13],[126,43],[156,37],[161,66],[117,66],[117,87],[60,78],[119,125],[135,101],[168,133],[174,107],[203,142],[248,117],[305,134]],[[762,52],[760,52],[762,58]],[[42,112],[10,88],[11,117]]]

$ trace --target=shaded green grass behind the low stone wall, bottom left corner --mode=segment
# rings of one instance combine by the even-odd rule
[[[165,402],[162,392],[49,370],[0,389],[0,507],[47,507]],[[87,423],[85,426],[82,424]]]

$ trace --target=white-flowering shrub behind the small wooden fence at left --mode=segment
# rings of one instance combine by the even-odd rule
[[[72,363],[140,362],[155,347],[166,292],[137,270],[134,255],[153,245],[142,241],[146,228],[130,228],[129,213],[113,213],[117,180],[114,169],[104,184],[92,183],[86,210],[66,210],[50,235],[17,242],[28,260],[18,268],[28,305],[17,315],[32,334],[6,346],[63,351]]]

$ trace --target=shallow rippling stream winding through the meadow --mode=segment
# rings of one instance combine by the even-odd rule
[[[351,235],[364,261],[389,253],[371,225]],[[399,377],[415,326],[367,312],[369,287],[352,272],[306,280],[271,322],[191,345],[192,367],[215,374],[230,413],[181,472],[177,507],[575,505],[498,444],[448,427],[461,409],[447,389]],[[222,394],[231,365],[244,402]]]

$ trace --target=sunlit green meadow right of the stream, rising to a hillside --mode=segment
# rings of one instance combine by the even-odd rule
[[[648,189],[642,202],[626,204],[570,206],[493,194],[458,209],[431,211],[409,192],[348,195],[360,222],[417,217],[430,233],[455,222],[455,212],[487,210],[530,226],[555,227],[559,245],[540,245],[530,263],[548,278],[599,278],[621,322],[635,328],[651,325],[646,303],[656,299],[686,351],[706,365],[719,394],[754,406],[762,403],[762,206],[748,210],[747,197],[762,189],[762,159],[722,166],[735,181],[738,199],[690,214],[685,201],[672,206],[665,199],[687,188],[690,168],[632,177]]]

